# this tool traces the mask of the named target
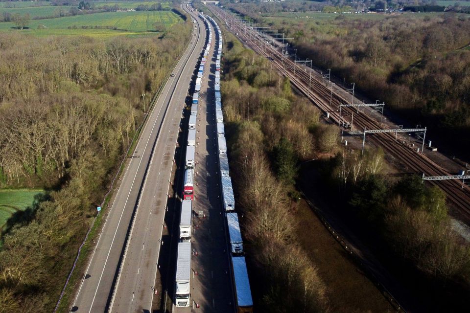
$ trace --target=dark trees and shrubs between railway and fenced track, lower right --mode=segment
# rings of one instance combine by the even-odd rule
[[[468,305],[462,295],[470,291],[470,246],[452,228],[445,193],[419,176],[387,177],[385,167],[381,150],[339,152],[321,166],[326,195],[379,242],[376,253],[421,273],[413,284],[426,286],[436,311],[462,309]]]

